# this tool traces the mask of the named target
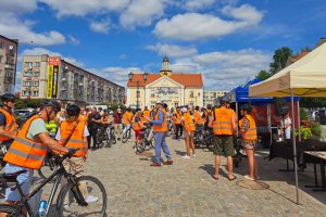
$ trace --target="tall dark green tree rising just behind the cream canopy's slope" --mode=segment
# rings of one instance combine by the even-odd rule
[[[273,55],[273,62],[269,63],[269,72],[272,75],[276,74],[279,69],[286,67],[287,61],[292,56],[293,51],[288,47],[277,49]]]

